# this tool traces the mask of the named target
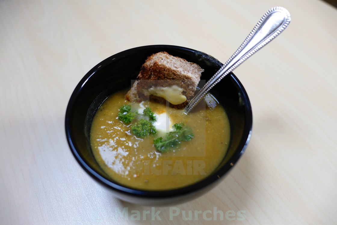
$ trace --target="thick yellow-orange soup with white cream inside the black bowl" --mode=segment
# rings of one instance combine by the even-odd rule
[[[172,190],[204,179],[220,164],[228,149],[230,126],[224,109],[211,94],[185,115],[183,110],[155,102],[130,103],[125,93],[108,97],[91,124],[94,157],[112,180],[139,190]],[[118,118],[123,105],[138,111],[149,107],[166,124],[156,126],[156,134],[139,138],[130,131],[133,121],[126,124]],[[190,128],[193,138],[158,151],[154,140],[165,138],[174,124]]]

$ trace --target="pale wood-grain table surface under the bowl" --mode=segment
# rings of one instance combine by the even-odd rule
[[[235,71],[253,133],[216,188],[151,208],[112,197],[78,165],[64,117],[94,65],[154,44],[225,62],[274,6],[292,21]],[[336,21],[336,8],[318,0],[1,0],[0,224],[337,224]],[[132,221],[132,210],[160,210],[161,220]],[[180,214],[170,218],[170,210]],[[196,210],[210,212],[196,220]]]

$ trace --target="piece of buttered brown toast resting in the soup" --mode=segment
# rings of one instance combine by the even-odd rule
[[[181,109],[187,105],[204,71],[199,65],[158,52],[149,56],[125,95],[130,102],[154,100]]]

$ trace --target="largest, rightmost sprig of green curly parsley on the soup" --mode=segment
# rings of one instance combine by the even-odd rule
[[[185,126],[184,123],[175,123],[172,127],[175,128],[175,131],[166,133],[165,139],[159,137],[153,140],[154,147],[159,152],[166,152],[180,144],[180,142],[189,141],[194,137],[191,128]]]

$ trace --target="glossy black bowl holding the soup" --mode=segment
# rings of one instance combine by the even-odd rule
[[[176,204],[191,200],[210,190],[225,177],[246,148],[252,128],[252,111],[247,93],[233,74],[215,85],[211,93],[226,109],[231,122],[231,145],[221,165],[207,178],[187,187],[168,191],[144,191],[115,183],[98,166],[89,143],[92,118],[102,102],[113,92],[130,87],[146,58],[160,51],[200,65],[202,80],[209,80],[222,66],[217,59],[193,49],[152,45],[117,53],[93,67],[73,91],[66,115],[65,131],[69,147],[82,168],[114,196],[147,205]]]

